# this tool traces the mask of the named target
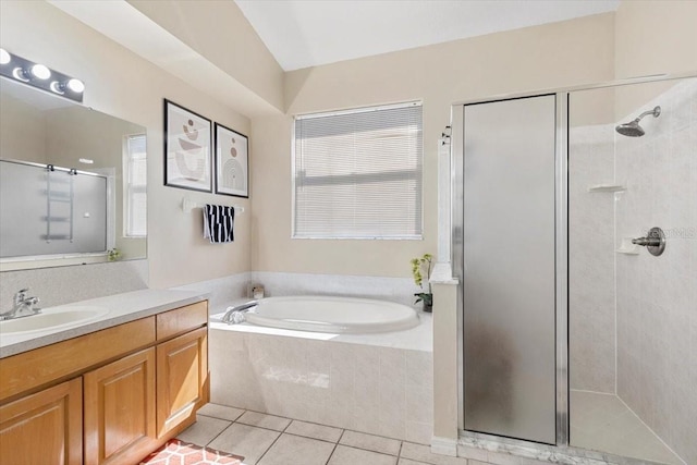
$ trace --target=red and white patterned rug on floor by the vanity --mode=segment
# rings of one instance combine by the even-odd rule
[[[239,455],[170,439],[140,462],[140,465],[242,465],[243,460],[244,457]]]

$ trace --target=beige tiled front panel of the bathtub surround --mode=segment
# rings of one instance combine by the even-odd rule
[[[229,327],[212,327],[208,340],[215,403],[430,443],[430,352],[246,333]]]

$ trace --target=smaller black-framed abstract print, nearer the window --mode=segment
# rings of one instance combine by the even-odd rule
[[[249,198],[247,136],[216,123],[216,194]]]

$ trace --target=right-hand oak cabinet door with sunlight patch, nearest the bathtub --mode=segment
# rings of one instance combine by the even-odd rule
[[[158,437],[195,421],[208,402],[208,329],[200,328],[157,346]]]

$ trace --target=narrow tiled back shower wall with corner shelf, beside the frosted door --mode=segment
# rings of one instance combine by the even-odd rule
[[[573,101],[572,101],[573,105]],[[572,127],[568,158],[571,389],[615,392],[614,183],[612,125]]]

